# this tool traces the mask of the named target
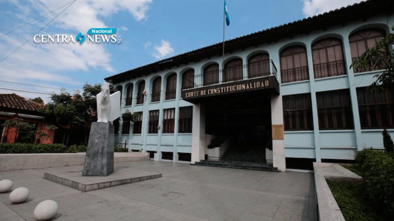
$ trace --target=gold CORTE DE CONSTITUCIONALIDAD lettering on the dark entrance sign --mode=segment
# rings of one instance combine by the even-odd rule
[[[197,91],[191,91],[185,93],[185,98],[193,98],[195,96],[205,96],[205,95],[213,95],[213,94],[225,94],[229,92],[241,92],[247,91],[252,89],[264,88],[269,87],[269,81],[255,81],[249,83],[238,83],[236,85],[229,85],[217,88],[208,88],[208,89],[201,89]]]

